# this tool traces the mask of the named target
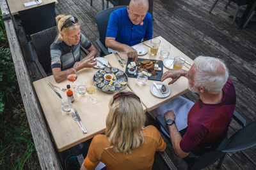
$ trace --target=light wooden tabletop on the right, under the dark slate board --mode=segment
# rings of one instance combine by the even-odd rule
[[[161,36],[159,36],[157,38],[159,38],[161,40],[161,44],[159,46],[159,50],[157,52],[157,55],[150,55],[150,48],[141,43],[140,45],[143,45],[143,46],[147,47],[148,52],[145,55],[139,56],[140,58],[142,58],[142,59],[164,60],[163,57],[161,57],[161,55],[160,55],[160,50],[161,50],[161,47],[163,46],[163,44],[168,43],[168,44],[171,45],[169,58],[174,58],[174,57],[180,56],[180,57],[183,57],[184,59],[188,60],[188,62],[190,62],[191,64],[193,64],[193,60],[191,60],[184,53],[180,52],[180,50],[175,48],[175,46],[173,46],[171,43],[166,41]],[[145,43],[150,45],[150,41],[146,41]],[[125,59],[127,61],[127,55],[124,52],[118,52],[118,54],[123,59]],[[124,65],[124,67],[121,67],[119,62],[116,60],[115,55],[113,53],[110,54],[110,55],[107,55],[105,58],[108,59],[110,66],[115,66],[115,67],[118,67],[118,69],[121,69],[122,71],[125,71],[126,65]],[[184,67],[184,66],[183,66],[183,69],[188,70],[188,68]],[[167,69],[166,67],[163,66],[163,72],[165,72],[167,70],[169,70],[169,69]],[[165,97],[165,98],[156,97],[150,92],[150,87],[153,85],[153,82],[155,80],[148,80],[147,83],[145,83],[144,85],[139,84],[136,78],[130,78],[129,77],[128,80],[129,80],[128,87],[132,90],[132,92],[134,92],[136,95],[138,95],[140,97],[141,103],[144,104],[144,106],[147,108],[147,111],[154,110],[158,106],[161,106],[162,104],[164,104],[168,101],[171,101],[175,97],[178,97],[178,96],[188,92],[188,79],[185,78],[185,77],[181,77],[175,83],[173,83],[172,85],[169,85],[172,92],[171,92],[170,96]],[[168,78],[167,80],[164,80],[163,83],[168,85],[168,83],[171,80],[172,80],[171,78]],[[155,82],[157,82],[157,81],[155,81]]]

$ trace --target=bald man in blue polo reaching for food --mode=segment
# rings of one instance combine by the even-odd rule
[[[148,0],[131,0],[129,6],[111,13],[106,34],[109,52],[125,52],[137,60],[138,54],[131,46],[152,39],[152,16],[148,11]]]

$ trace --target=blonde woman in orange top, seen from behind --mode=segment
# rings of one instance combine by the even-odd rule
[[[107,169],[152,169],[156,151],[166,148],[156,127],[148,125],[140,98],[119,92],[109,103],[106,135],[96,135],[81,169],[95,169],[103,162]]]

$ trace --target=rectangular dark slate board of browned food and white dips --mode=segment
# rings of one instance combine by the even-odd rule
[[[138,58],[138,62],[134,62],[134,59],[128,58],[127,60],[127,66],[125,69],[125,73],[129,77],[137,78],[137,76],[134,76],[134,72],[131,72],[129,70],[130,68],[136,68],[137,73],[141,68],[145,68],[148,71],[148,80],[157,80],[161,81],[161,78],[163,76],[163,61],[162,60],[150,60],[150,59],[140,59]]]

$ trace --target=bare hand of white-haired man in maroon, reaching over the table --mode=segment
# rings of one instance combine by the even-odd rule
[[[168,83],[168,85],[170,85],[174,83],[176,80],[178,80],[181,76],[186,76],[186,74],[188,74],[188,71],[184,69],[169,70],[163,74],[161,81],[163,82],[167,78],[172,78],[172,81]]]

